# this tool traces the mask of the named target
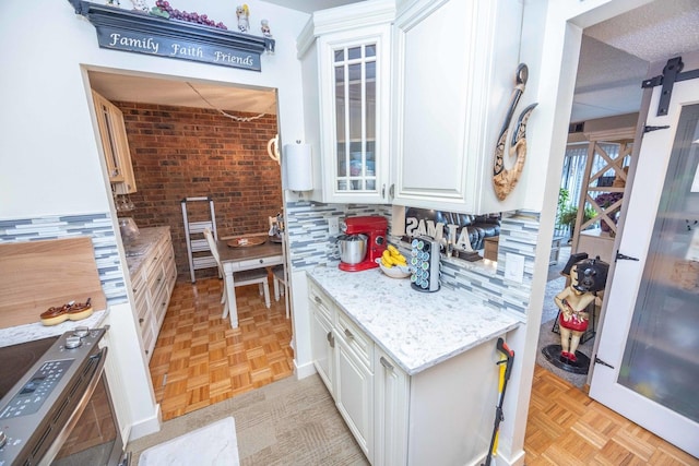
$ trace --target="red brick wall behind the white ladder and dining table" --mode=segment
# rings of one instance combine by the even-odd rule
[[[183,198],[213,198],[220,237],[268,230],[268,217],[283,202],[280,166],[266,153],[276,116],[244,122],[215,110],[115,104],[123,111],[138,187],[130,215],[140,228],[170,227],[179,279],[190,279]],[[209,203],[188,203],[188,215],[190,222],[209,218]],[[214,273],[201,270],[197,277]]]

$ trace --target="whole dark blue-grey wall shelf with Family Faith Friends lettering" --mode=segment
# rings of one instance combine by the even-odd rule
[[[85,0],[68,0],[97,32],[99,47],[261,71],[260,55],[274,50],[274,39],[234,33],[146,12],[122,10]]]

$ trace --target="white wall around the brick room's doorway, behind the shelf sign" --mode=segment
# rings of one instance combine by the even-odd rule
[[[129,0],[121,3],[130,8]],[[175,0],[174,4],[236,27],[235,2]],[[308,15],[261,1],[248,5],[251,33],[261,35],[260,20],[266,19],[276,39],[276,53],[261,58],[262,72],[100,49],[94,26],[76,15],[68,0],[0,2],[0,219],[114,214],[90,110],[86,68],[275,87],[280,132],[287,141],[303,140],[296,37]],[[112,309],[125,312],[128,307]],[[135,347],[138,324],[133,319],[119,322],[133,328],[119,332],[122,340],[110,346]],[[129,391],[123,399],[129,404],[132,437],[149,433],[153,423],[157,428],[158,411],[147,367],[131,365],[120,375]]]

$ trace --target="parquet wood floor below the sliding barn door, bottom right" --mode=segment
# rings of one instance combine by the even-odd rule
[[[507,416],[507,414],[506,414]],[[526,466],[699,465],[699,461],[536,366]]]

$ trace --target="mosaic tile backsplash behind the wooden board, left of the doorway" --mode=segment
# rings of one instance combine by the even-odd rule
[[[108,213],[0,220],[0,242],[90,236],[107,304],[128,301],[119,250]]]

